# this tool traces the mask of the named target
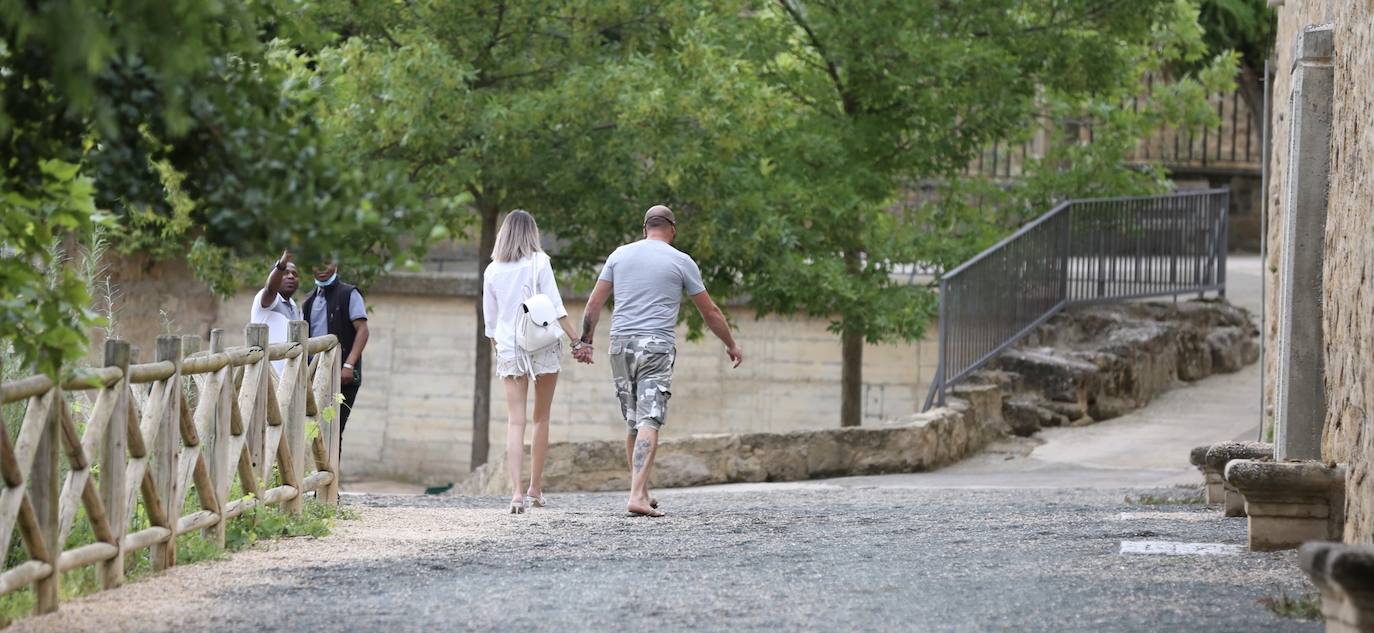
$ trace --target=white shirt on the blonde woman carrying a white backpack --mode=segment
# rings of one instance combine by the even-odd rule
[[[536,258],[530,265],[530,257]],[[534,253],[521,261],[493,261],[486,266],[482,276],[482,316],[486,323],[486,338],[496,339],[496,353],[511,354],[515,352],[515,321],[523,314],[521,303],[526,298],[544,294],[554,302],[558,317],[567,316],[563,308],[563,298],[558,294],[558,283],[554,281],[554,266],[548,255]],[[530,288],[530,271],[537,272],[539,283]]]

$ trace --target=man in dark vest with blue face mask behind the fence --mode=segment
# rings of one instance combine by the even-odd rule
[[[339,435],[348,426],[357,389],[363,386],[363,349],[367,347],[367,306],[356,286],[339,280],[339,266],[330,262],[315,269],[315,291],[301,306],[311,321],[311,336],[333,334],[339,339],[339,391],[344,408],[339,411]]]

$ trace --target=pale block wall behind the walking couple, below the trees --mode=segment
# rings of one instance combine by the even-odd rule
[[[345,478],[438,483],[469,472],[473,347],[471,281],[456,276],[389,280],[367,294],[371,342],[364,382],[344,438]],[[225,301],[216,327],[240,345],[251,292]],[[580,320],[584,302],[566,301]],[[690,309],[690,306],[684,306]],[[745,364],[731,369],[709,332],[698,342],[679,331],[677,367],[665,437],[708,433],[780,433],[840,424],[840,339],[823,320],[754,319],[732,308]],[[609,313],[598,332],[598,362],[578,365],[565,352],[550,437],[559,442],[614,439],[625,426],[605,358]],[[934,372],[929,342],[868,346],[864,420],[914,413]],[[492,456],[506,442],[503,386],[492,384]]]

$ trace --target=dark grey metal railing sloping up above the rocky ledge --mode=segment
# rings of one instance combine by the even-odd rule
[[[925,408],[1069,305],[1226,294],[1227,202],[1227,189],[1068,200],[941,276]]]

